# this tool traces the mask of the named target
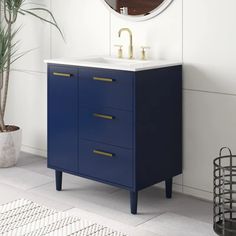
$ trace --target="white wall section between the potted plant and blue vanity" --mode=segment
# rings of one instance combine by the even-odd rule
[[[41,3],[50,7],[47,0]],[[50,27],[30,16],[19,16],[18,20],[18,51],[33,51],[13,65],[6,123],[23,129],[24,151],[46,156],[47,80],[43,59],[50,57]]]

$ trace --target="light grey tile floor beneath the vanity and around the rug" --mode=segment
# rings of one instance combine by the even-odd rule
[[[168,200],[153,186],[139,194],[137,215],[129,212],[129,193],[64,174],[57,192],[46,160],[21,153],[16,167],[0,169],[0,204],[26,198],[106,224],[134,236],[211,236],[212,203],[174,193]]]

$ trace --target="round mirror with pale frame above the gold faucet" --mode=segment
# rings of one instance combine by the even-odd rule
[[[173,0],[102,0],[116,15],[130,20],[147,20],[165,10]]]

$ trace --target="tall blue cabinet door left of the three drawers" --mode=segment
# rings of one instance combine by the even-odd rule
[[[48,166],[77,172],[78,79],[74,67],[48,68]]]

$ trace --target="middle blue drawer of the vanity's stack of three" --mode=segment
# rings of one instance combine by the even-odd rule
[[[79,108],[81,138],[132,148],[133,113],[111,108]]]

